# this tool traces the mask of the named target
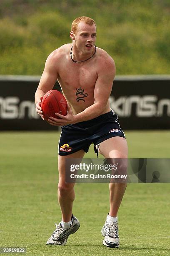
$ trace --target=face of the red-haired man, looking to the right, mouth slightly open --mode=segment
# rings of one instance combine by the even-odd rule
[[[75,44],[83,53],[92,53],[93,46],[96,41],[96,26],[89,26],[84,22],[80,22],[75,35]]]

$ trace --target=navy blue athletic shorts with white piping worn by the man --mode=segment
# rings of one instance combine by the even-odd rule
[[[66,156],[81,149],[88,152],[90,145],[94,143],[94,150],[98,156],[99,143],[116,136],[125,138],[118,123],[118,116],[113,111],[92,120],[64,125],[62,126],[58,154]]]

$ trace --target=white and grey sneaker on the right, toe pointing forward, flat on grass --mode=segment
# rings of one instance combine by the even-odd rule
[[[102,236],[105,237],[103,244],[107,247],[118,248],[119,247],[119,234],[118,223],[109,222],[106,220],[105,225],[102,227]]]

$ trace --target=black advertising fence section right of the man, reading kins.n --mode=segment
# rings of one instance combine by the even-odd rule
[[[111,107],[123,129],[170,129],[170,75],[119,76]]]

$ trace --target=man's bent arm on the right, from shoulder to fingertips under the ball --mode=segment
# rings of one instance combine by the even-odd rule
[[[110,93],[112,91],[112,84],[115,77],[115,63],[113,59],[110,57],[109,60],[105,61],[105,66],[100,67],[98,72],[98,77],[95,83],[94,89],[94,103],[90,107],[86,108],[82,112],[73,115],[70,106],[67,105],[68,113],[66,116],[62,116],[60,114],[56,114],[57,116],[62,118],[55,119],[53,125],[67,125],[73,123],[79,123],[87,120],[91,120],[101,115],[105,110],[107,105]],[[51,118],[54,120],[54,118]],[[57,124],[58,123],[58,124]],[[52,121],[51,121],[52,124]]]

